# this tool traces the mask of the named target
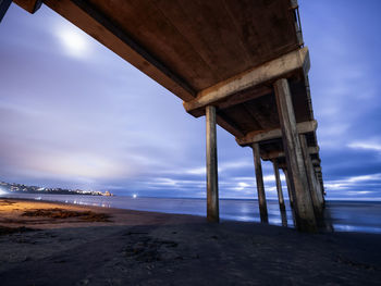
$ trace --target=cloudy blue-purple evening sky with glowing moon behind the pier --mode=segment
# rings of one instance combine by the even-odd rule
[[[381,200],[381,1],[299,11],[327,199]],[[0,181],[206,197],[205,117],[45,5],[0,23]],[[217,136],[220,198],[257,198],[251,149]]]

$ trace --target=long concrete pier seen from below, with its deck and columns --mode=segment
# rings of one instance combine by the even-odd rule
[[[297,229],[317,231],[324,187],[296,0],[13,2],[29,13],[44,2],[181,98],[186,112],[206,116],[209,222],[219,222],[220,125],[253,149],[261,222],[268,222],[261,162],[271,161],[280,209],[283,172]],[[0,0],[0,21],[10,3]]]

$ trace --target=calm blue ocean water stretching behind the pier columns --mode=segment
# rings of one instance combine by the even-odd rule
[[[99,206],[103,208],[131,209],[165,213],[194,215],[206,214],[205,199],[168,199],[168,198],[132,198],[100,197],[79,195],[41,195],[41,194],[5,194],[13,198],[61,201],[65,203]],[[294,227],[290,204],[286,211],[280,212],[276,200],[268,200],[269,223]],[[327,222],[336,232],[364,232],[381,234],[381,202],[365,201],[328,201]],[[282,214],[282,215],[281,215]],[[221,220],[242,222],[260,222],[257,200],[220,200]]]

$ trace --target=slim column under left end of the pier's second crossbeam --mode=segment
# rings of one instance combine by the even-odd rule
[[[260,161],[260,151],[259,151],[258,144],[253,145],[253,153],[254,153],[254,166],[256,170],[260,221],[262,223],[268,223],[269,217],[268,217],[268,213],[267,213],[266,194],[265,194],[263,175],[262,175],[262,164]]]

